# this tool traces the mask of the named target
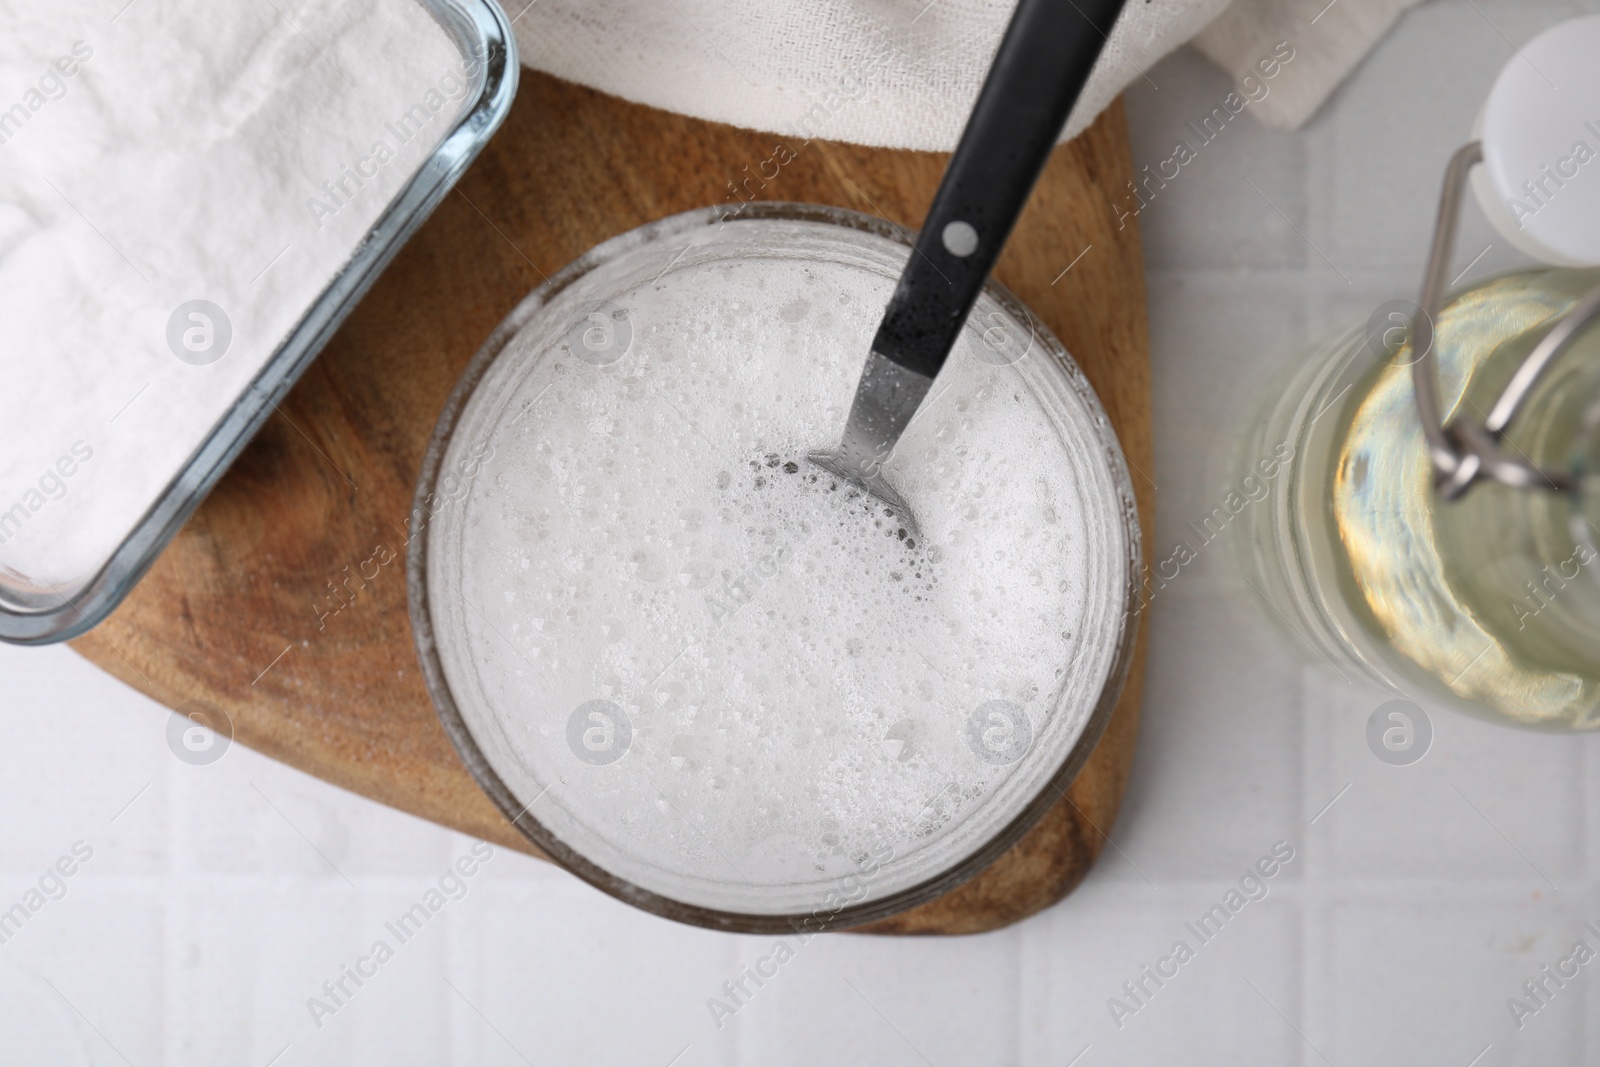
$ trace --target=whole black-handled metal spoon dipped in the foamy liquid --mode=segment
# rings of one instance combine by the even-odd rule
[[[810,459],[915,528],[883,464],[1000,258],[1125,0],[1019,0],[878,323],[845,434]]]

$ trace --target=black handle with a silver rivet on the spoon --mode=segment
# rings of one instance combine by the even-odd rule
[[[934,378],[1125,0],[1019,0],[872,352]]]

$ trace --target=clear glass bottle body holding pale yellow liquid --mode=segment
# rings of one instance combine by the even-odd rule
[[[1432,328],[1443,422],[1485,421],[1597,283],[1600,270],[1520,270],[1445,302]],[[1574,485],[1483,480],[1446,499],[1408,326],[1398,302],[1379,309],[1274,390],[1242,464],[1290,458],[1242,515],[1245,577],[1341,670],[1502,721],[1600,726],[1600,498],[1586,480],[1600,462],[1600,333],[1547,366],[1501,438]]]

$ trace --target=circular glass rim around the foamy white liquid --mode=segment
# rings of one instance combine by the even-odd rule
[[[478,349],[467,366],[461,371],[461,376],[456,379],[456,384],[440,411],[434,434],[429,437],[427,450],[418,472],[411,514],[427,514],[427,510],[419,512],[418,509],[426,509],[427,499],[434,496],[434,486],[438,482],[445,453],[467,402],[477,390],[477,386],[482,382],[490,366],[493,366],[499,354],[517,336],[523,323],[526,323],[534,312],[544,307],[578,278],[602,264],[632,251],[634,248],[699,227],[763,219],[826,222],[845,229],[862,230],[904,246],[910,246],[915,242],[915,232],[912,230],[906,230],[904,227],[899,227],[886,219],[861,214],[845,208],[792,202],[747,202],[733,211],[725,206],[683,211],[654,222],[646,222],[595,245],[587,253],[581,254],[578,259],[550,275],[547,282],[528,293],[528,296],[525,296],[517,307],[514,307],[510,314],[501,320],[501,323],[490,334],[488,341],[483,342],[483,347]],[[410,606],[411,635],[416,643],[422,683],[427,688],[429,697],[434,701],[434,710],[437,712],[445,733],[450,736],[451,744],[456,747],[458,755],[462,763],[466,763],[467,771],[477,781],[478,787],[490,797],[507,822],[510,822],[546,857],[595,886],[602,893],[662,918],[728,933],[819,933],[822,929],[843,929],[888,918],[907,909],[917,907],[918,904],[944,896],[946,893],[974,878],[1013,845],[1022,840],[1038,819],[1056,805],[1058,798],[1066,797],[1067,787],[1078,776],[1078,773],[1082,773],[1090,755],[1094,752],[1094,747],[1099,744],[1099,739],[1104,734],[1126,686],[1142,616],[1142,611],[1136,609],[1138,584],[1142,571],[1142,528],[1139,525],[1138,506],[1134,504],[1133,494],[1133,480],[1128,472],[1126,459],[1122,454],[1122,445],[1115,438],[1115,434],[1109,429],[1109,416],[1106,414],[1104,405],[1099,402],[1093,386],[1088,384],[1082,370],[1072,360],[1070,354],[1067,354],[1066,346],[1062,346],[1061,341],[1056,339],[1054,333],[1051,333],[1014,294],[994,278],[986,283],[984,291],[1018,322],[1027,322],[1032,326],[1034,336],[1042,341],[1045,350],[1054,357],[1056,365],[1070,379],[1074,392],[1090,406],[1090,413],[1094,416],[1096,430],[1106,445],[1102,454],[1106,456],[1109,475],[1120,502],[1118,514],[1126,545],[1126,571],[1123,582],[1126,609],[1122,616],[1123,624],[1117,637],[1117,648],[1112,654],[1106,681],[1101,686],[1099,699],[1088,715],[1083,733],[1074,742],[1072,750],[1066,755],[1056,773],[1045,781],[1043,789],[1040,789],[1038,793],[1006,825],[1003,825],[989,841],[960,862],[933,875],[931,878],[880,899],[866,901],[862,904],[848,904],[838,910],[829,909],[826,910],[826,917],[822,915],[824,909],[792,915],[730,912],[686,904],[651,889],[645,889],[600,867],[550,833],[528,813],[528,805],[517,800],[483,755],[483,750],[478,747],[472,731],[467,728],[466,720],[456,707],[454,697],[450,691],[450,683],[445,678],[443,664],[438,659],[438,646],[434,638],[434,622],[427,598],[427,545],[430,523],[421,523],[421,530],[411,537],[406,547],[406,601]]]

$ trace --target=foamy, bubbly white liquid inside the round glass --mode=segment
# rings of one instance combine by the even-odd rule
[[[963,333],[888,466],[920,536],[806,462],[904,254],[797,221],[645,245],[538,309],[453,430],[442,469],[493,458],[427,545],[451,694],[517,801],[632,886],[794,915],[918,885],[1107,686],[1126,498],[1040,344],[1005,365]]]

